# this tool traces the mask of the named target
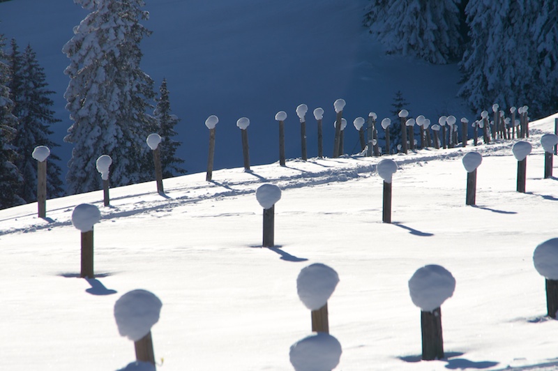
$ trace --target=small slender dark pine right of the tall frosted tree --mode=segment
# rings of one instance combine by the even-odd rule
[[[180,119],[176,115],[171,114],[167,79],[163,79],[159,89],[159,98],[156,101],[157,105],[153,111],[153,116],[157,121],[159,127],[158,134],[162,139],[160,151],[163,178],[185,174],[186,170],[180,167],[184,160],[176,157],[176,150],[181,145],[181,142],[176,142],[176,140],[172,139],[176,136],[174,127],[179,123]]]

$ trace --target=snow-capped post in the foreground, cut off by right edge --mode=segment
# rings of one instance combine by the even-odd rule
[[[538,274],[545,278],[548,317],[556,319],[558,312],[558,239],[539,244],[533,253]]]

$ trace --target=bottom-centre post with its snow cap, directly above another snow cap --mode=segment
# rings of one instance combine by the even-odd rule
[[[296,278],[296,292],[306,308],[312,311],[312,331],[329,333],[327,301],[339,282],[335,270],[325,264],[310,264]]]

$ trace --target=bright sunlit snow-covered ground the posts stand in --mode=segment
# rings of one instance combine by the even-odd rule
[[[558,115],[557,115],[558,116]],[[545,318],[536,245],[556,237],[557,179],[543,179],[545,132],[531,124],[527,193],[515,192],[512,142],[390,156],[393,224],[382,223],[380,158],[287,160],[112,189],[0,211],[2,370],[117,370],[135,358],[114,303],[133,289],[163,302],[151,329],[159,370],[292,370],[289,347],[310,335],[302,268],[323,263],[340,282],[329,328],[336,370],[558,370],[558,321]],[[471,142],[469,142],[470,144]],[[477,206],[465,206],[462,156],[476,149]],[[555,169],[555,172],[558,170]],[[282,190],[275,243],[262,248],[255,190]],[[99,207],[96,279],[80,275],[77,204]],[[420,309],[408,281],[426,264],[455,278],[442,305],[447,359],[420,361]],[[164,361],[163,361],[164,360]]]

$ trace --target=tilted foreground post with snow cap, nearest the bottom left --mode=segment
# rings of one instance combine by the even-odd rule
[[[120,335],[134,342],[137,361],[149,362],[153,366],[155,352],[151,327],[159,321],[162,306],[155,294],[142,289],[127,292],[114,303],[114,319]]]

